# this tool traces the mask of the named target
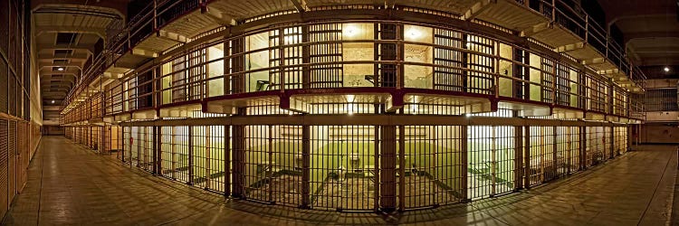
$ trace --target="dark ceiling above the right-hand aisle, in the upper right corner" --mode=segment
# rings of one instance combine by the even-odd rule
[[[679,78],[679,0],[598,0],[649,79]],[[665,71],[665,67],[669,71]]]

